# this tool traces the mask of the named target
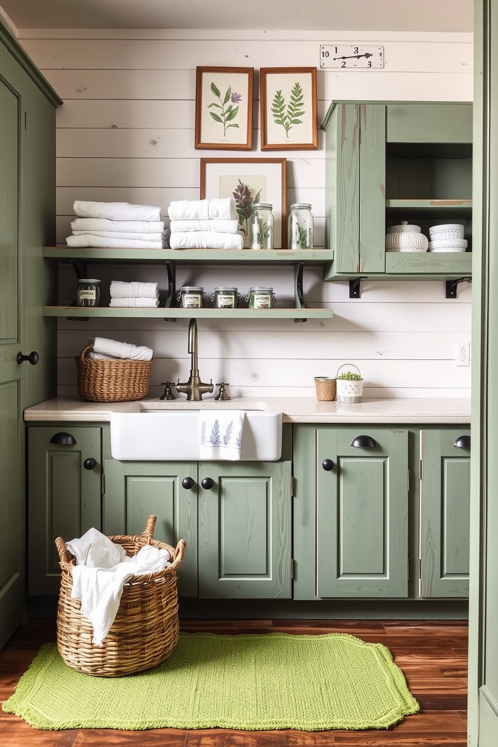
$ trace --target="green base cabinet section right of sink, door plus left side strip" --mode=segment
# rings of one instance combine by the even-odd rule
[[[408,594],[408,431],[299,426],[294,598]]]

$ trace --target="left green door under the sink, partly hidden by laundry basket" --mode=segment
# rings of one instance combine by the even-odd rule
[[[118,462],[105,459],[103,524],[106,534],[140,534],[149,515],[157,516],[154,536],[186,550],[178,571],[178,593],[197,596],[197,463]],[[181,481],[192,477],[193,487]]]

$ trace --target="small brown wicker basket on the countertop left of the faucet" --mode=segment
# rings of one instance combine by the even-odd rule
[[[146,396],[153,360],[96,361],[87,358],[87,350],[92,346],[75,357],[80,397],[90,402],[128,402]]]

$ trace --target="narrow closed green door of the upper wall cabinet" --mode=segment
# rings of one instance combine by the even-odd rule
[[[385,105],[360,106],[360,267],[385,271]]]

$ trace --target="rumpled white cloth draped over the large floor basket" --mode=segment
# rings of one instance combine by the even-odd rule
[[[111,562],[113,551],[108,545],[116,548],[122,560],[113,565],[99,565],[101,559],[105,563]],[[81,614],[92,624],[92,642],[98,646],[102,646],[116,618],[125,583],[133,576],[161,571],[171,565],[171,556],[166,549],[146,545],[136,555],[128,557],[120,545],[115,545],[94,528],[80,539],[66,542],[66,547],[73,555],[71,548],[77,551],[87,548],[86,563],[78,562],[75,555],[77,564],[71,571],[71,598],[81,600]]]

